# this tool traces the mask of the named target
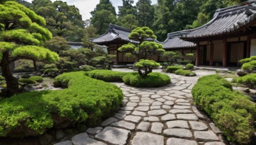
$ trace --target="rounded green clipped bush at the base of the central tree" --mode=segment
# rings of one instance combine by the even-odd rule
[[[170,84],[170,76],[160,72],[151,72],[146,78],[141,78],[138,73],[130,73],[124,76],[124,83],[135,87],[148,88]]]

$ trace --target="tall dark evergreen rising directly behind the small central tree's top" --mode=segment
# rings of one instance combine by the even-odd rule
[[[137,20],[140,27],[152,27],[154,19],[154,6],[151,5],[151,0],[139,0],[137,6]]]

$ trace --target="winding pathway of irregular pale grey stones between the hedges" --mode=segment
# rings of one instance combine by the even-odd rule
[[[199,76],[214,74],[196,72]],[[193,106],[191,89],[199,76],[188,78],[168,74],[172,83],[160,88],[134,88],[115,83],[124,92],[123,106],[101,127],[88,128],[71,141],[80,144],[224,144],[221,132]]]

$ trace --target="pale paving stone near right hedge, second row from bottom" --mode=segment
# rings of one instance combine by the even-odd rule
[[[195,131],[194,137],[196,141],[204,141],[204,142],[211,142],[211,141],[219,141],[219,138],[214,132],[212,131]]]

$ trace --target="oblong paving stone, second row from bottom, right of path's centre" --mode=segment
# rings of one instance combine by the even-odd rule
[[[193,137],[192,133],[188,129],[184,128],[170,128],[163,131],[166,137],[182,137],[190,139]]]

